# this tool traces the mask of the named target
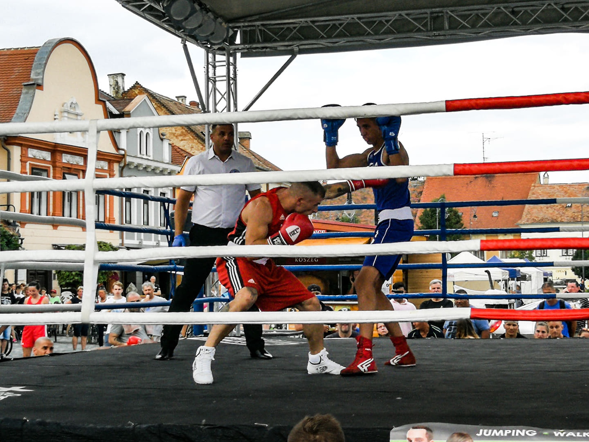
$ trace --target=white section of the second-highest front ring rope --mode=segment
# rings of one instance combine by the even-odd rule
[[[345,169],[292,170],[244,173],[216,173],[151,177],[99,178],[93,180],[95,190],[129,187],[214,186],[216,184],[287,183],[323,180],[366,180],[408,178],[412,176],[452,176],[454,164],[422,166],[348,167]],[[53,180],[51,182],[0,183],[0,193],[11,192],[78,192],[85,189],[85,180]]]

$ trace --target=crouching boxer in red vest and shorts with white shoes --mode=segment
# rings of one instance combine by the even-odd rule
[[[318,182],[293,183],[260,193],[241,210],[229,245],[293,245],[309,238],[313,224],[309,217],[325,196]],[[296,307],[302,311],[320,311],[319,300],[292,273],[274,265],[270,258],[217,259],[219,281],[229,289],[233,300],[229,312],[248,311],[256,305],[261,311],[279,311]],[[193,362],[197,384],[211,384],[211,361],[215,348],[229,335],[234,325],[216,324],[205,344],[198,348]],[[323,324],[303,324],[309,341],[309,374],[339,374],[342,365],[327,357],[323,347]]]

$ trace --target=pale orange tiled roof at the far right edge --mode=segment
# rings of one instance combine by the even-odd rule
[[[589,183],[575,184],[534,184],[529,199],[589,197]],[[581,204],[526,204],[519,225],[535,223],[578,223],[589,221],[589,207]]]

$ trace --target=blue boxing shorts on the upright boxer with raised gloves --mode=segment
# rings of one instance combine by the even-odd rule
[[[376,226],[372,244],[411,241],[412,237],[412,219],[385,219]],[[386,280],[391,278],[399,265],[399,261],[401,261],[401,255],[375,255],[366,256],[362,265],[376,268]]]

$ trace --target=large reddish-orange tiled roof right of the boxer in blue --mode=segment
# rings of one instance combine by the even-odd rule
[[[448,201],[484,201],[527,199],[532,184],[538,183],[537,173],[513,173],[481,176],[428,177],[421,202],[432,202],[445,195]],[[524,206],[458,207],[465,229],[517,227]],[[416,226],[423,209],[418,210]],[[494,212],[498,216],[493,216]],[[477,217],[473,217],[476,213]]]

